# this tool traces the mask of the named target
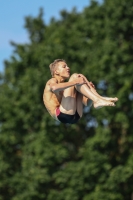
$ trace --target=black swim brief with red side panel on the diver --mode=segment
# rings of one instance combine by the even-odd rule
[[[56,116],[59,119],[59,121],[64,124],[75,124],[80,119],[80,116],[77,111],[74,115],[68,115],[62,113],[59,108],[56,109]]]

